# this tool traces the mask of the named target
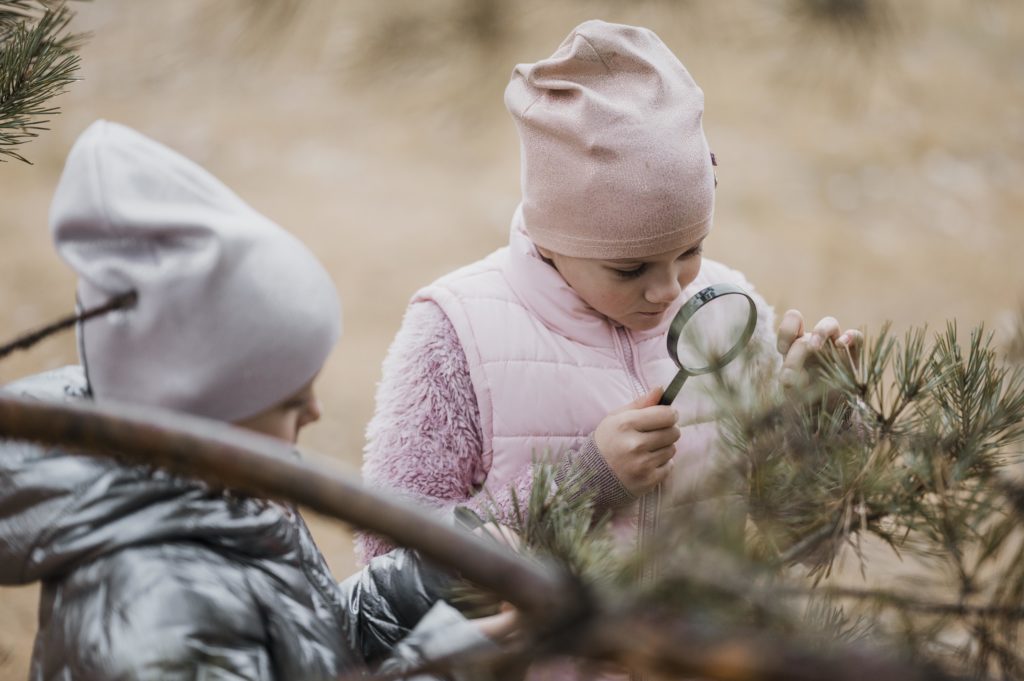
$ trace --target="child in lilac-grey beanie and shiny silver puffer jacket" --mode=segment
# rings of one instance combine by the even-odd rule
[[[134,302],[80,323],[84,373],[9,390],[289,442],[319,417],[313,381],[341,331],[331,279],[216,178],[97,122],[69,156],[51,227],[82,308]],[[339,586],[288,506],[16,442],[0,449],[0,583],[43,583],[33,679],[334,679],[385,657],[433,602],[412,555]],[[484,630],[440,604],[403,658],[485,643]]]

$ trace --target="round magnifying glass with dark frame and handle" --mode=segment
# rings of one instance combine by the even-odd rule
[[[669,327],[669,356],[679,371],[658,403],[671,405],[691,376],[721,371],[739,356],[757,324],[754,298],[738,286],[714,284],[698,291]]]

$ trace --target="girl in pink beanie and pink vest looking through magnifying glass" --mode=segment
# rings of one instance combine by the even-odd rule
[[[582,468],[620,527],[642,519],[642,539],[717,445],[699,381],[657,403],[676,373],[673,315],[706,286],[742,287],[757,302],[754,354],[774,370],[773,313],[742,274],[701,257],[716,184],[703,94],[652,32],[587,22],[550,58],[516,67],[505,101],[522,154],[509,245],[413,297],[384,363],[364,473],[433,507],[493,496],[508,513],[511,492],[526,497],[534,457],[560,454],[559,475]],[[787,313],[783,380],[798,382],[826,338],[851,343],[855,332],[826,318],[804,334]],[[359,539],[366,559],[387,548]]]

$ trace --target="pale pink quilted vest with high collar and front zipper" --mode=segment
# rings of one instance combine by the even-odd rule
[[[508,247],[419,291],[414,301],[440,305],[466,352],[489,469],[485,486],[503,488],[537,456],[579,449],[608,413],[668,385],[677,371],[666,349],[672,315],[723,282],[752,290],[742,274],[706,258],[658,328],[630,331],[585,303],[541,258],[517,212]],[[756,300],[756,338],[770,337],[771,309]],[[674,402],[683,432],[667,488],[697,483],[714,459],[709,384],[690,379]]]

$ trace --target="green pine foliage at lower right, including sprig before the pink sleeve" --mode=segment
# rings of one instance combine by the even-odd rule
[[[566,561],[606,603],[712,631],[1024,677],[1024,369],[983,329],[962,340],[950,325],[885,328],[857,360],[830,350],[799,394],[736,376],[718,386],[722,465],[663,516],[646,555],[614,550],[579,491],[549,494],[550,467],[521,500],[524,548]],[[838,556],[859,561],[853,583]],[[885,580],[906,561],[912,584]],[[641,563],[653,578],[638,579]]]

